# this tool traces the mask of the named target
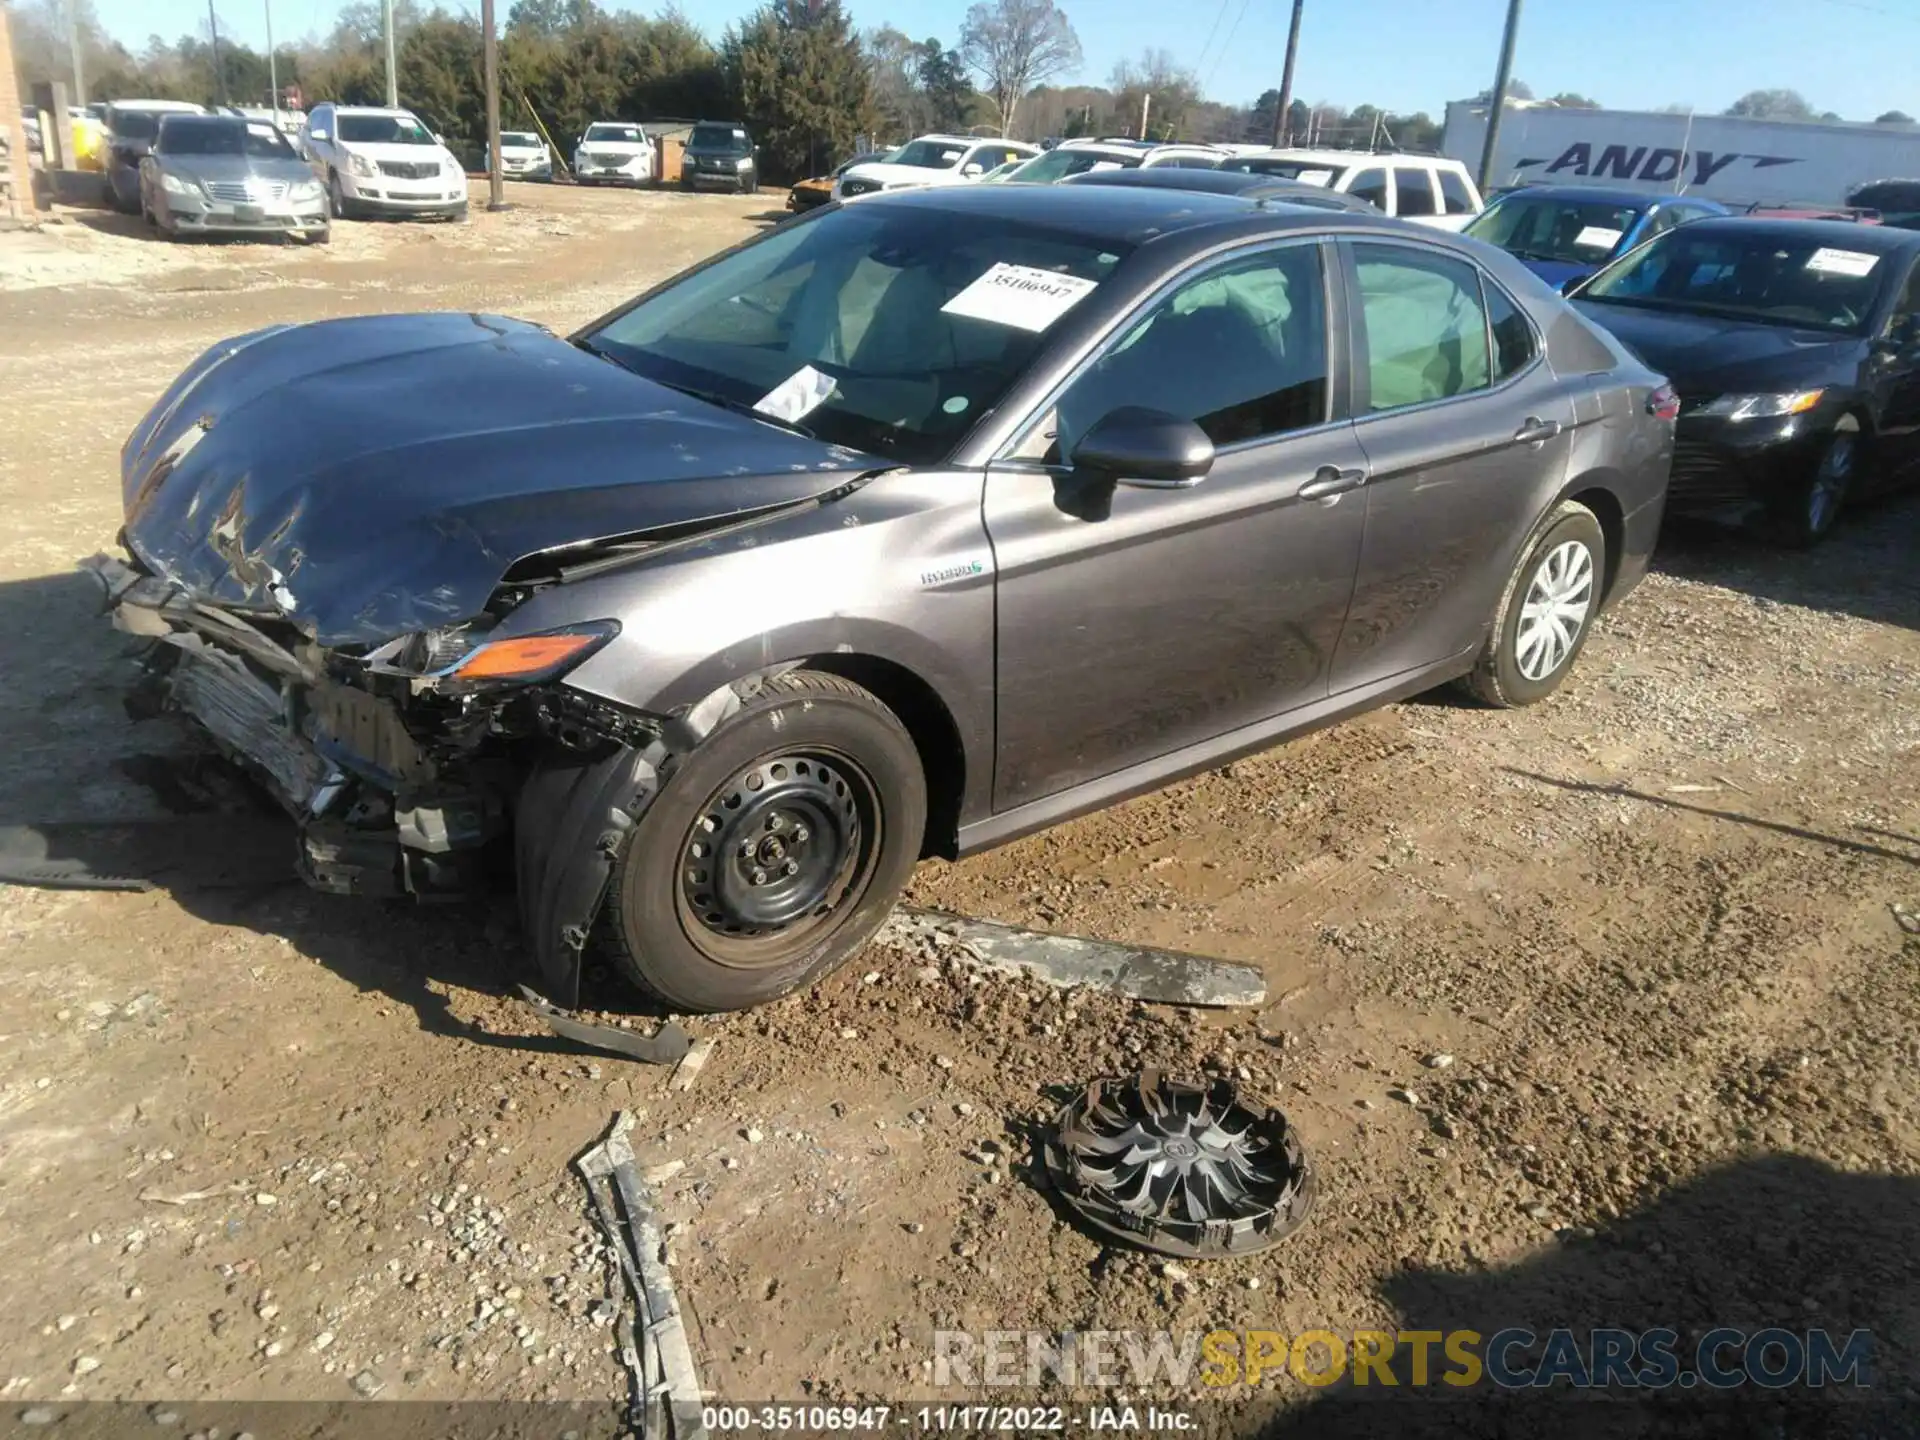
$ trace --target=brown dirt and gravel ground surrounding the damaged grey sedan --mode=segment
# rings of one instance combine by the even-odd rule
[[[111,547],[121,440],[211,342],[376,309],[564,328],[776,204],[509,196],[326,250],[167,248],[83,213],[0,234],[0,824],[121,824],[161,879],[0,889],[10,1407],[616,1398],[568,1162],[632,1110],[643,1164],[684,1164],[668,1244],[726,1400],[996,1398],[935,1388],[939,1329],[1780,1325],[1870,1329],[1870,1428],[1920,1413],[1920,505],[1811,557],[1672,538],[1534,710],[1398,705],[914,881],[1258,964],[1258,1014],[876,948],[689,1021],[716,1048],[674,1091],[507,998],[511,897],[334,900],[246,797],[175,814],[146,781],[180,739],[123,716],[123,641],[73,572]],[[595,1002],[634,1006],[607,977]],[[1037,1121],[1140,1064],[1288,1112],[1321,1187],[1298,1235],[1164,1265],[1068,1223]],[[1187,1398],[1227,1432],[1306,1434],[1336,1404],[1284,1377]],[[1807,1400],[1776,1432],[1866,1415]],[[1384,1413],[1538,1432],[1501,1405]],[[1599,1413],[1720,1423],[1678,1396]]]

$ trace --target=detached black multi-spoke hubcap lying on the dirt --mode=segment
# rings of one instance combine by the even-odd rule
[[[1089,1225],[1167,1256],[1267,1250],[1313,1206],[1313,1171],[1286,1116],[1248,1106],[1225,1079],[1096,1079],[1060,1112],[1043,1154]]]

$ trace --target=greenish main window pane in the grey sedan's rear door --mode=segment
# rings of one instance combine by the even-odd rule
[[[1465,261],[1398,246],[1354,246],[1367,405],[1425,405],[1492,380],[1480,273]]]

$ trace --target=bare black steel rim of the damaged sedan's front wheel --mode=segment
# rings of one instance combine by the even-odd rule
[[[862,893],[877,852],[879,806],[858,764],[755,760],[708,797],[682,845],[682,931],[724,966],[785,964]]]

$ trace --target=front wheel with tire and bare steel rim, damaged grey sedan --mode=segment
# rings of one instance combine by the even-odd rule
[[[839,676],[778,676],[672,772],[614,866],[614,964],[674,1010],[743,1010],[872,939],[927,787],[906,728]]]

